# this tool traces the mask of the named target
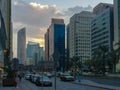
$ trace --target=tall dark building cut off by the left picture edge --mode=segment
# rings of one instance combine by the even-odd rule
[[[4,50],[7,56],[4,57]],[[0,66],[4,58],[11,60],[12,56],[11,0],[0,0]]]

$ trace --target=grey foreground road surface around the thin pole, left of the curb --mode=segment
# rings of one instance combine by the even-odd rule
[[[52,78],[54,83],[54,78]],[[56,90],[103,90],[96,87],[84,86],[84,85],[77,85],[72,84],[70,82],[63,82],[57,78]],[[17,88],[15,87],[0,87],[0,90],[55,90],[54,85],[53,87],[40,87],[36,86],[35,84],[31,83],[23,79],[21,82],[18,81]]]

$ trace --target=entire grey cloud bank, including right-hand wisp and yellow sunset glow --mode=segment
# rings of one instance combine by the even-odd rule
[[[56,5],[42,5],[36,2],[25,3],[23,0],[12,0],[14,51],[16,52],[17,32],[19,29],[26,28],[27,41],[38,41],[41,46],[44,46],[44,34],[51,23],[51,18],[63,18],[65,23],[68,23],[69,17],[73,14],[91,9],[91,6],[75,6],[68,8],[65,12],[61,12]]]

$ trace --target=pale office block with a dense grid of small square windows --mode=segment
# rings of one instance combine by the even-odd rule
[[[91,58],[92,12],[82,11],[70,18],[68,29],[69,58],[79,57],[82,61]]]

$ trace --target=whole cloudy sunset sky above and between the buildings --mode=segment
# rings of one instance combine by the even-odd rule
[[[100,2],[113,3],[113,0],[12,0],[14,57],[19,29],[26,27],[27,42],[38,42],[44,47],[44,34],[51,18],[62,18],[67,25],[73,14],[83,10],[92,11]]]

